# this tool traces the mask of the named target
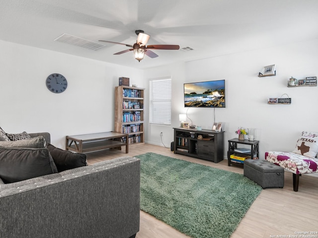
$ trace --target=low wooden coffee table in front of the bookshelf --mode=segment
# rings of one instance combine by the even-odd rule
[[[128,153],[128,134],[118,132],[101,132],[84,135],[67,135],[65,149],[79,153],[115,148],[121,150],[126,146]]]

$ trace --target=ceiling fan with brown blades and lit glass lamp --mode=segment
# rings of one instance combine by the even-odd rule
[[[112,44],[118,44],[118,45],[124,45],[127,47],[131,47],[132,49],[128,49],[125,51],[117,52],[114,55],[121,55],[123,53],[129,52],[129,51],[134,51],[135,54],[135,59],[140,62],[140,60],[144,59],[144,56],[147,55],[150,58],[156,58],[158,55],[151,50],[179,50],[178,45],[149,45],[146,46],[150,35],[147,35],[144,33],[143,30],[136,30],[135,31],[137,37],[137,42],[134,45],[128,45],[124,43],[118,43],[118,42],[113,42],[113,41],[103,41],[99,40],[100,42],[105,42],[105,43],[112,43]],[[151,49],[151,50],[150,50]]]

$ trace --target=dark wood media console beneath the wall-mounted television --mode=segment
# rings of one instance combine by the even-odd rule
[[[219,163],[224,159],[224,131],[173,128],[174,154],[182,154]]]

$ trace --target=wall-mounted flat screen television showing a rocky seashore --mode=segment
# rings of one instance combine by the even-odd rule
[[[185,83],[184,107],[225,108],[225,80]]]

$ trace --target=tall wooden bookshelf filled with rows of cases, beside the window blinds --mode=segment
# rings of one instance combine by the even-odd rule
[[[115,87],[115,131],[128,134],[129,145],[144,143],[144,88]]]

